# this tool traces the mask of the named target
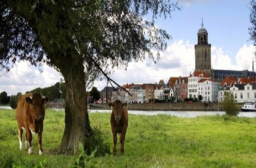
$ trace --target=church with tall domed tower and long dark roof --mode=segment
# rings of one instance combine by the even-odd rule
[[[235,78],[256,76],[254,70],[234,71],[214,70],[211,68],[211,44],[208,44],[208,32],[204,28],[203,20],[201,28],[197,32],[197,44],[195,44],[195,71],[204,71],[214,81],[223,81],[226,76]]]

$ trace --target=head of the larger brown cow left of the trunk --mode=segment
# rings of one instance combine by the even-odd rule
[[[49,98],[41,94],[32,94],[26,97],[26,102],[30,104],[30,113],[35,120],[41,121],[45,118],[45,103]]]

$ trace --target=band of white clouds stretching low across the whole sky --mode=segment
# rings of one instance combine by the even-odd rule
[[[214,69],[251,71],[253,53],[253,45],[242,46],[236,54],[236,64],[233,65],[230,56],[225,54],[222,48],[211,46],[211,65]],[[170,77],[185,77],[189,76],[190,72],[194,72],[194,54],[194,44],[183,40],[174,41],[160,53],[160,60],[156,64],[150,58],[146,58],[143,62],[131,62],[128,64],[127,71],[116,69],[111,78],[119,85],[158,83],[162,79],[166,83]],[[25,93],[37,87],[52,86],[60,81],[62,76],[59,72],[46,65],[42,68],[43,72],[40,73],[35,67],[28,66],[26,62],[17,64],[9,73],[0,77],[0,92],[6,91],[8,95],[17,94],[17,92]],[[106,85],[106,81],[95,81],[93,84],[98,90],[102,90]]]

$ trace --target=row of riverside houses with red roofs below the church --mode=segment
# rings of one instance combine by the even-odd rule
[[[160,80],[155,84],[131,83],[122,87],[124,89],[105,87],[100,92],[102,102],[120,100],[126,103],[151,103],[155,99],[183,101],[185,98],[221,102],[225,92],[233,92],[236,102],[256,101],[255,77],[226,76],[223,81],[218,82],[213,81],[203,71],[194,71],[189,77],[170,77],[167,83]]]

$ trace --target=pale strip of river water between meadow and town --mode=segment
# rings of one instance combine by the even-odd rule
[[[7,106],[0,106],[0,108],[12,109]],[[55,108],[54,110],[64,111],[64,109]],[[89,113],[111,113],[111,110],[91,110],[88,109]],[[188,118],[195,118],[197,116],[203,115],[223,115],[225,114],[224,111],[136,111],[136,110],[129,110],[128,114],[137,114],[137,115],[157,115],[157,114],[166,114],[171,116],[177,117],[188,117]],[[254,118],[256,117],[256,112],[239,112],[238,117],[248,117]]]

